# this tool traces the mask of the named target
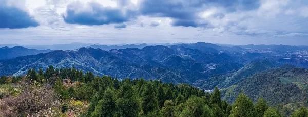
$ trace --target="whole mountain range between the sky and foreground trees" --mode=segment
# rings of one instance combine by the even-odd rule
[[[75,50],[1,48],[0,75],[24,75],[29,68],[74,67],[114,78],[145,78],[204,90],[219,87],[232,102],[240,92],[256,101],[292,105],[307,100],[308,48],[288,45],[89,45]],[[1,50],[0,49],[0,50]],[[4,51],[3,51],[4,50]],[[288,65],[285,65],[288,64]],[[276,100],[277,99],[277,100]]]

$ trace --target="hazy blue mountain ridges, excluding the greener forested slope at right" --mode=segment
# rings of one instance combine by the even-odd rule
[[[219,46],[205,42],[166,46],[90,45],[87,48],[32,53],[33,55],[25,54],[29,56],[12,60],[1,60],[0,75],[22,75],[28,68],[53,65],[59,68],[75,67],[97,75],[161,79],[166,82],[193,83],[195,86],[211,89],[215,85],[227,87],[236,84],[249,75],[274,67],[272,62],[308,68],[308,54],[305,55],[305,49],[290,46],[297,49],[276,51],[277,46],[282,45],[260,45],[262,48],[259,45],[247,46]],[[284,59],[289,57],[290,59]],[[255,64],[252,62],[264,58],[268,61]]]

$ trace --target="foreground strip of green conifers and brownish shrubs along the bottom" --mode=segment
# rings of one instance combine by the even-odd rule
[[[218,88],[205,93],[186,84],[119,81],[52,66],[30,69],[25,77],[3,76],[0,98],[3,116],[284,116],[264,99],[254,104],[243,93],[228,104]],[[291,116],[308,116],[308,109]]]

